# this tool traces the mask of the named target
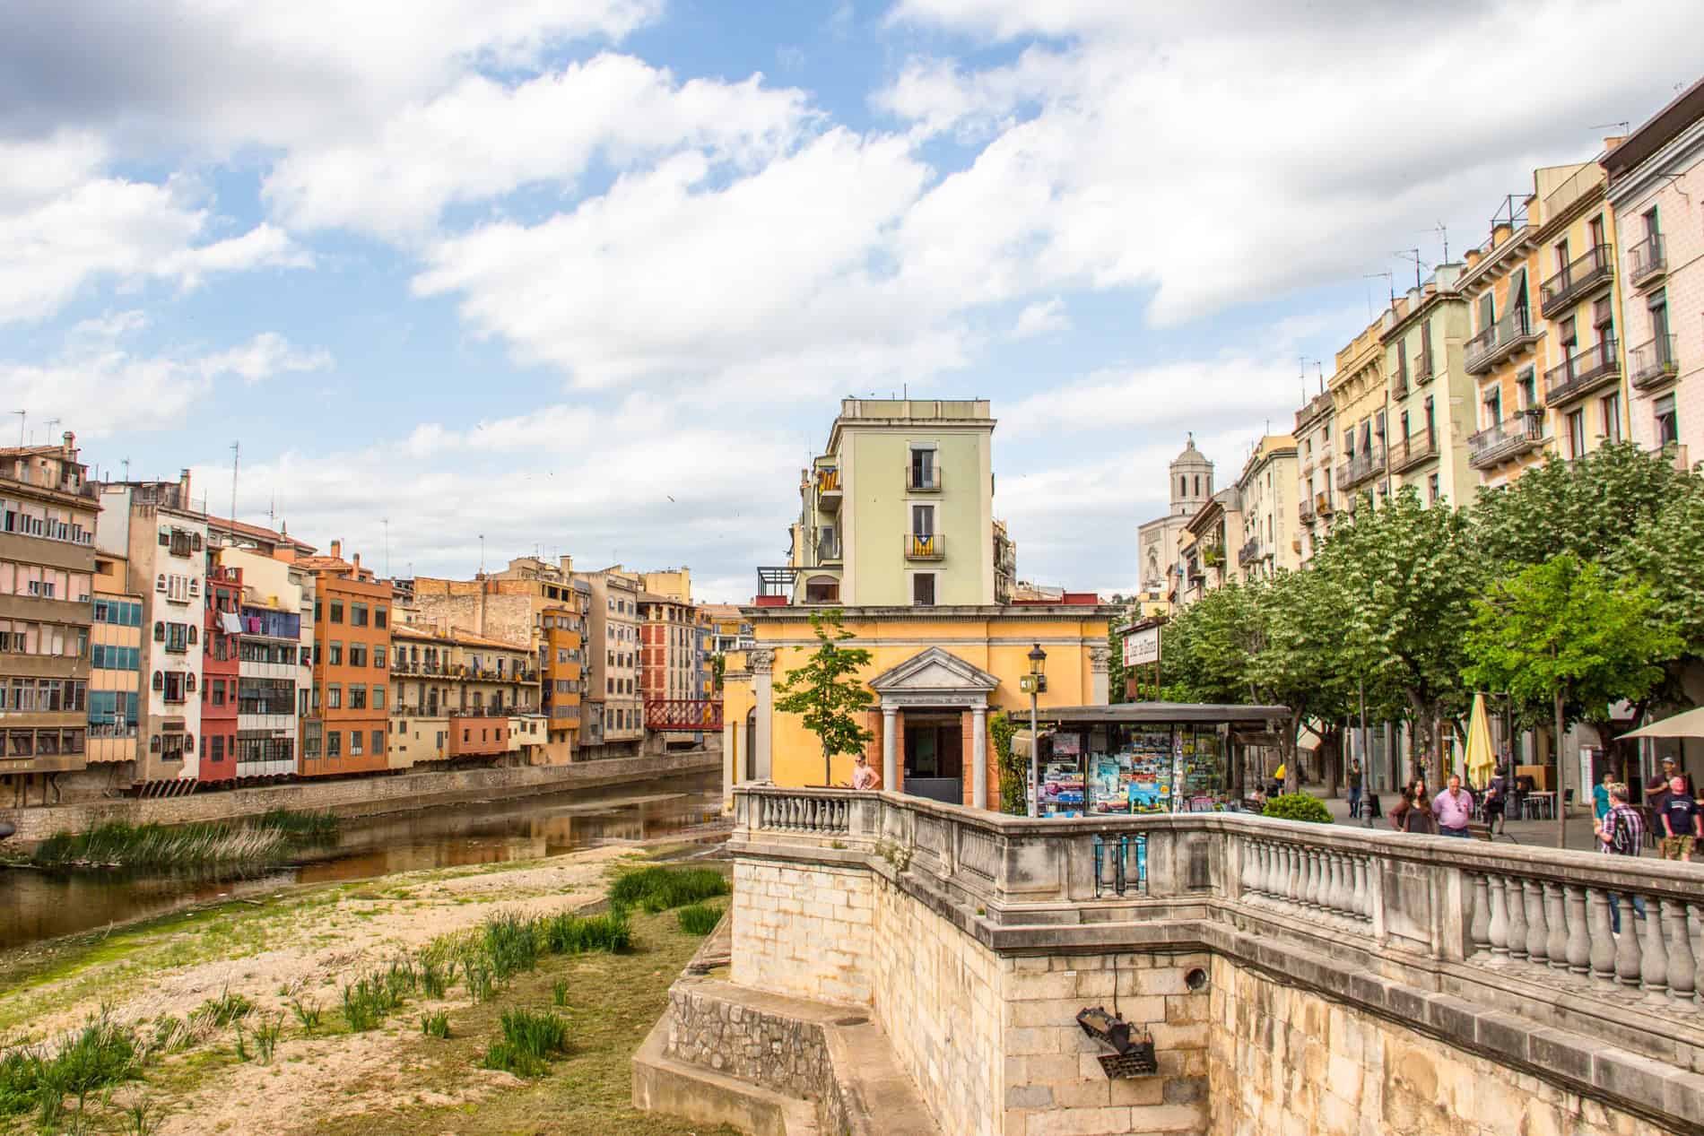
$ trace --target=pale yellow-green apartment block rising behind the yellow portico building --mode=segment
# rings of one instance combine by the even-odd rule
[[[980,399],[843,399],[760,603],[995,603],[993,427]]]

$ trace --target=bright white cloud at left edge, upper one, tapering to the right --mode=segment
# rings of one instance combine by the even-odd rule
[[[126,181],[106,164],[85,133],[0,141],[0,325],[44,320],[94,281],[194,288],[213,273],[312,262],[264,223],[201,244],[215,218],[194,179]]]

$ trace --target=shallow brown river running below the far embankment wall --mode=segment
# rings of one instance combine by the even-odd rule
[[[245,879],[0,869],[0,911],[5,913],[0,916],[0,950],[296,884],[535,860],[600,843],[666,836],[719,819],[721,785],[721,773],[712,770],[573,794],[349,818],[336,845],[303,852],[298,863]]]

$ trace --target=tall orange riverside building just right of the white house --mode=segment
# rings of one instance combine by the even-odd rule
[[[389,582],[373,579],[361,557],[302,557],[314,574],[314,693],[303,722],[303,777],[371,773],[387,768],[390,710]]]

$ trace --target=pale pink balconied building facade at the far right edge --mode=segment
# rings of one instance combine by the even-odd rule
[[[1704,460],[1704,80],[1603,157],[1631,438]]]

